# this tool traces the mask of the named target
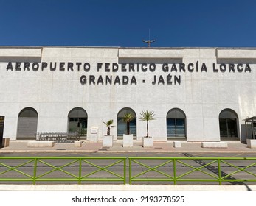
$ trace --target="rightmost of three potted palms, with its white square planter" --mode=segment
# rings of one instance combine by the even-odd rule
[[[155,120],[155,113],[153,111],[144,110],[140,113],[139,120],[147,121],[147,135],[143,137],[143,147],[153,147],[153,138],[148,136],[148,122]]]

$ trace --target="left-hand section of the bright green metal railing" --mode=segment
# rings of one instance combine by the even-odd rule
[[[0,182],[122,182],[126,157],[0,157]],[[107,162],[107,163],[106,163]],[[122,168],[121,171],[118,168]],[[117,171],[118,169],[118,171]]]

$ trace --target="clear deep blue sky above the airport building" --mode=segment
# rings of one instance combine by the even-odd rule
[[[0,46],[256,47],[255,0],[0,0]]]

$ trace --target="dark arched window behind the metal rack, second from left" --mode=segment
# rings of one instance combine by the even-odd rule
[[[87,135],[87,113],[83,108],[75,107],[70,110],[68,119],[68,131],[77,132],[80,136],[84,137]]]

